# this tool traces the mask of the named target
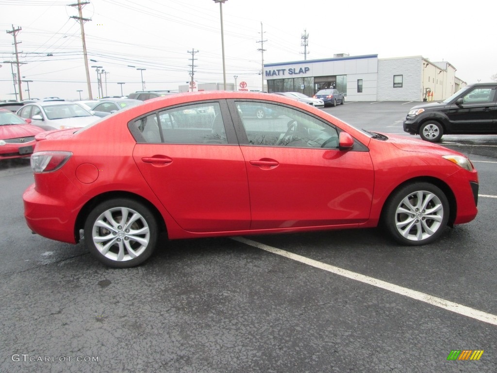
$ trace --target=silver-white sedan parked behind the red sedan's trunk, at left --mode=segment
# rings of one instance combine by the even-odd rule
[[[24,119],[31,119],[31,124],[47,131],[81,128],[100,119],[83,106],[70,101],[27,103],[17,110],[17,115]]]

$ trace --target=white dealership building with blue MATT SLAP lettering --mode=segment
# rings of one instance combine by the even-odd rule
[[[264,64],[267,92],[301,92],[308,96],[336,88],[350,101],[443,100],[466,85],[447,61],[422,56],[382,58],[378,55]]]

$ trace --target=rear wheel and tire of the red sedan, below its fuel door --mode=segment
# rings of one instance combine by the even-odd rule
[[[123,215],[127,224],[122,224]],[[84,243],[103,264],[131,268],[152,255],[158,232],[156,218],[149,208],[133,199],[116,198],[100,203],[88,214]]]

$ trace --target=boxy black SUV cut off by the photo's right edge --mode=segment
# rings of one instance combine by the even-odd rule
[[[438,142],[443,134],[497,134],[497,83],[466,86],[442,102],[411,108],[404,131]]]

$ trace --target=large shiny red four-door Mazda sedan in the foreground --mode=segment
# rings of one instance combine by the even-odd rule
[[[263,107],[274,116],[244,115]],[[23,195],[34,232],[133,267],[169,239],[375,227],[422,245],[477,214],[462,154],[358,130],[281,95],[146,101],[39,137]],[[83,231],[83,235],[81,232]],[[163,243],[161,243],[163,244]]]

